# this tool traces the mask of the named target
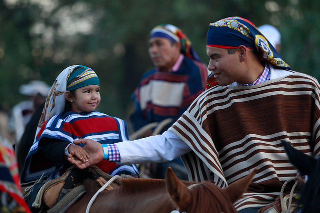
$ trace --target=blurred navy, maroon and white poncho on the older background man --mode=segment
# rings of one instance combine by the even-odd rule
[[[154,68],[144,73],[132,95],[135,110],[130,121],[133,129],[136,131],[166,118],[177,120],[204,91],[207,75],[204,64],[187,57],[183,57],[174,72]]]

